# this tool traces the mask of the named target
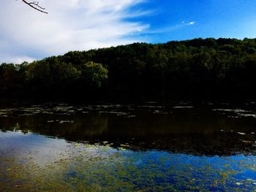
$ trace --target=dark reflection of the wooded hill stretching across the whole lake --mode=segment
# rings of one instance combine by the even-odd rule
[[[238,131],[250,133],[255,130],[255,120],[204,114],[179,112],[171,116],[138,118],[121,118],[99,112],[75,116],[35,115],[0,118],[0,128],[2,131],[33,132],[68,141],[129,143],[134,149],[160,149],[194,155],[255,154],[255,137],[237,134]],[[60,120],[67,120],[67,123],[59,123]]]

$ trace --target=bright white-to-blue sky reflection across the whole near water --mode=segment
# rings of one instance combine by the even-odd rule
[[[135,152],[124,148],[113,149],[108,144],[67,143],[64,139],[37,134],[0,131],[0,161],[7,164],[6,168],[0,166],[0,182],[3,180],[1,177],[16,177],[7,171],[7,167],[13,166],[8,165],[7,156],[17,159],[19,164],[22,163],[18,169],[19,174],[22,173],[23,166],[26,168],[23,172],[37,172],[32,178],[26,174],[20,175],[30,185],[35,185],[38,182],[37,177],[40,178],[42,174],[49,177],[49,180],[44,179],[43,185],[51,187],[53,186],[50,183],[58,185],[59,182],[65,187],[75,180],[72,181],[72,186],[69,185],[70,188],[78,185],[89,187],[97,183],[101,188],[111,185],[112,189],[121,187],[127,190],[256,189],[254,155],[209,157],[167,153],[164,150]],[[27,162],[30,164],[26,164]],[[32,165],[39,165],[40,168]],[[108,183],[107,180],[111,182]],[[6,186],[5,189],[9,185]],[[27,187],[25,183],[23,187]]]

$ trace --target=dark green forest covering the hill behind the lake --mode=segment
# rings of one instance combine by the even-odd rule
[[[255,99],[256,39],[192,39],[1,64],[1,98]]]

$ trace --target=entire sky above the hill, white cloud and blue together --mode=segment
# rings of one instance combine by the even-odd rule
[[[256,0],[0,0],[0,63],[71,50],[208,37],[256,37]]]

